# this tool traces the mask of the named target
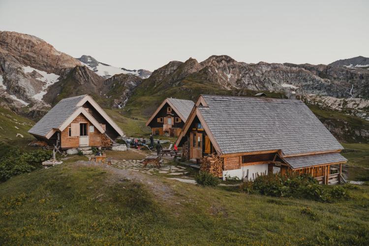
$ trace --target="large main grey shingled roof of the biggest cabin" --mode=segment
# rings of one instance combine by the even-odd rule
[[[199,106],[222,154],[281,150],[283,154],[343,147],[300,100],[202,95]]]

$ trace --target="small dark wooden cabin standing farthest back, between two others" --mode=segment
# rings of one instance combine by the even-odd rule
[[[153,135],[178,137],[194,104],[191,100],[166,98],[146,125],[151,127]]]

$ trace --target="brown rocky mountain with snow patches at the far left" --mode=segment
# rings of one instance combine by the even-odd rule
[[[80,64],[38,37],[0,31],[0,96],[5,100],[23,106],[40,101],[65,69]]]

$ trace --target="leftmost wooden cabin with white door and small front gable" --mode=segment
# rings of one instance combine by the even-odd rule
[[[109,147],[122,129],[90,95],[62,99],[29,131],[36,139],[62,149]]]

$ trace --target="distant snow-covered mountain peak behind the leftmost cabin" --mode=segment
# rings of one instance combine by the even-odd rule
[[[94,71],[96,74],[98,74],[99,76],[105,79],[110,78],[113,75],[121,74],[121,73],[136,75],[142,79],[149,78],[151,75],[151,72],[148,70],[144,70],[144,69],[128,70],[125,68],[114,67],[114,66],[102,63],[102,62],[98,62],[96,61],[96,59],[94,59],[91,56],[83,55],[82,57],[77,58],[77,60],[79,60],[83,65],[87,66],[92,71]]]

